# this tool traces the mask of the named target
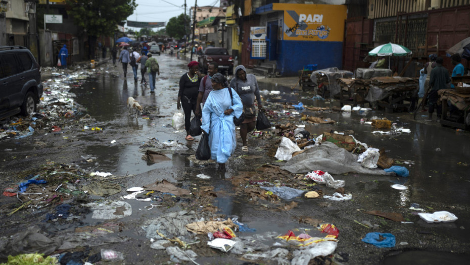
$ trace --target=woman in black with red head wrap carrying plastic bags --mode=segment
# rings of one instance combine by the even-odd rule
[[[196,113],[196,103],[198,101],[199,85],[201,79],[198,76],[199,63],[192,61],[187,64],[187,73],[179,79],[178,101],[176,107],[184,112],[184,128],[186,130],[186,140],[192,141],[194,138],[190,134],[191,112]]]

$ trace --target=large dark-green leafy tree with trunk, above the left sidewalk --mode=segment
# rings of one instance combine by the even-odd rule
[[[66,0],[67,14],[74,24],[88,35],[89,55],[95,57],[95,43],[99,36],[112,36],[116,25],[132,15],[135,0]]]

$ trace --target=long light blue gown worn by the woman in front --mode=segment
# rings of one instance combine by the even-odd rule
[[[243,111],[240,96],[232,89],[232,104],[228,89],[211,91],[202,110],[201,128],[209,134],[211,158],[217,163],[227,162],[228,157],[235,151],[237,142],[233,117],[240,118]],[[228,109],[232,109],[233,112],[226,116],[223,112]]]

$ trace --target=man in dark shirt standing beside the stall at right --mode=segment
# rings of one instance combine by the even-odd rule
[[[438,90],[445,89],[450,83],[450,76],[447,69],[442,66],[444,60],[442,57],[436,59],[436,67],[431,70],[431,78],[429,79],[429,116],[427,121],[432,121],[434,109],[437,109],[437,119],[441,119],[442,106],[439,100]]]

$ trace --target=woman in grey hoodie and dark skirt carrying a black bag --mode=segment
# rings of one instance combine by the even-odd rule
[[[247,74],[243,65],[239,65],[235,68],[235,77],[230,81],[230,87],[242,99],[245,120],[240,125],[240,136],[243,142],[242,151],[248,152],[247,134],[253,131],[256,126],[255,96],[258,101],[258,109],[262,108],[258,81],[254,75]]]

